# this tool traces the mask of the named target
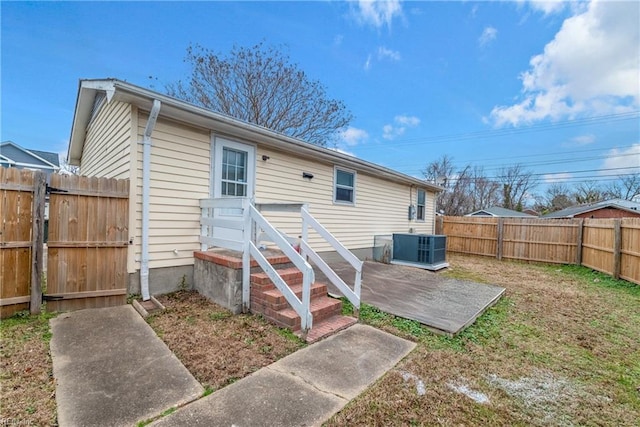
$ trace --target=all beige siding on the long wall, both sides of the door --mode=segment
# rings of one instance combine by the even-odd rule
[[[134,122],[137,122],[136,139],[141,140],[147,114],[141,112]],[[193,251],[200,248],[199,199],[209,197],[211,131],[160,118],[151,140],[149,267],[192,265]],[[132,236],[135,235],[133,271],[140,268],[142,235],[142,146],[136,146],[137,167],[132,171],[135,203],[131,205],[135,220],[130,224]],[[269,159],[263,161],[263,155]],[[314,178],[305,179],[302,172],[310,172]],[[373,236],[378,234],[406,233],[410,229],[417,233],[432,232],[434,194],[428,190],[427,219],[417,222],[407,218],[409,204],[417,200],[415,187],[356,172],[356,203],[343,205],[333,202],[333,180],[333,164],[265,149],[257,143],[257,203],[308,203],[311,214],[349,249],[372,247]],[[299,214],[265,212],[265,216],[291,236],[300,234]],[[332,250],[313,232],[310,241],[319,252]]]

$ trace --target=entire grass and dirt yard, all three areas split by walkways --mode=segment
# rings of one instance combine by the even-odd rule
[[[638,425],[640,286],[575,266],[449,262],[439,274],[503,286],[505,297],[455,338],[363,306],[361,322],[418,345],[328,426]],[[195,292],[161,302],[149,324],[208,393],[304,346]],[[3,422],[55,425],[51,317],[0,323]]]

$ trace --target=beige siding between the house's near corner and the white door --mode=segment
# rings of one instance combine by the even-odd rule
[[[142,139],[148,114],[138,115]],[[193,264],[200,249],[199,200],[209,197],[210,131],[159,118],[151,134],[149,267]],[[137,148],[135,268],[142,236],[142,146]],[[133,228],[133,227],[132,227]],[[178,250],[178,254],[174,250]]]

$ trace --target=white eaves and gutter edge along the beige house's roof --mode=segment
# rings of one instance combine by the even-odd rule
[[[105,94],[107,102],[111,102],[112,100],[126,102],[144,111],[151,111],[153,101],[158,100],[161,103],[160,117],[167,117],[207,129],[215,129],[216,131],[228,133],[239,138],[253,141],[257,140],[265,146],[296,153],[305,157],[326,160],[340,166],[368,172],[382,178],[428,188],[431,191],[439,192],[444,190],[438,185],[405,175],[384,166],[349,156],[336,150],[309,144],[300,139],[288,137],[265,127],[234,119],[188,102],[111,78],[80,80],[76,110],[71,128],[71,138],[69,140],[69,151],[67,154],[67,161],[71,165],[80,165],[86,130],[96,110],[96,99],[100,100]]]

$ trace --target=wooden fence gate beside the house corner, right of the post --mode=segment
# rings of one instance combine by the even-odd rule
[[[47,311],[126,303],[129,181],[52,175]]]

